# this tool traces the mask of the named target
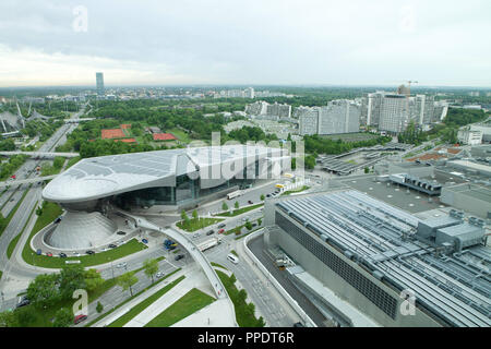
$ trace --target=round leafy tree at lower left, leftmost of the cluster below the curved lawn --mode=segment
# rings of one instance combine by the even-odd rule
[[[31,281],[26,297],[36,308],[50,306],[60,299],[59,275],[41,274]]]

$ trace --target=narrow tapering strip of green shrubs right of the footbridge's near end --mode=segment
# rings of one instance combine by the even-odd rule
[[[233,253],[235,251],[232,251]],[[225,288],[227,289],[227,293],[230,297],[233,308],[236,309],[236,320],[240,327],[264,327],[264,321],[262,317],[256,318],[254,315],[254,305],[253,303],[247,303],[247,292],[246,290],[242,293],[239,292],[235,285],[235,276],[227,276],[225,273],[220,270],[216,270],[216,274],[220,278]],[[252,304],[252,305],[251,305]]]

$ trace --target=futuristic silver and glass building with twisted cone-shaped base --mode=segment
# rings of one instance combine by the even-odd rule
[[[84,249],[110,241],[115,209],[177,213],[218,198],[256,180],[278,178],[290,167],[286,149],[224,145],[86,158],[53,179],[43,198],[65,215],[45,242]]]

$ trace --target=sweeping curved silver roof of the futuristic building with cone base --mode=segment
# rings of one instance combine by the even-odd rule
[[[201,177],[202,188],[209,188],[229,179],[221,172],[218,178],[213,176],[214,166],[235,164],[230,171],[236,174],[256,158],[280,154],[279,148],[224,145],[86,158],[53,179],[43,197],[58,203],[86,202],[139,189],[175,186],[180,174]]]

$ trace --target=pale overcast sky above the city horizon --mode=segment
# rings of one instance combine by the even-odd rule
[[[491,86],[489,0],[1,0],[0,86]]]

